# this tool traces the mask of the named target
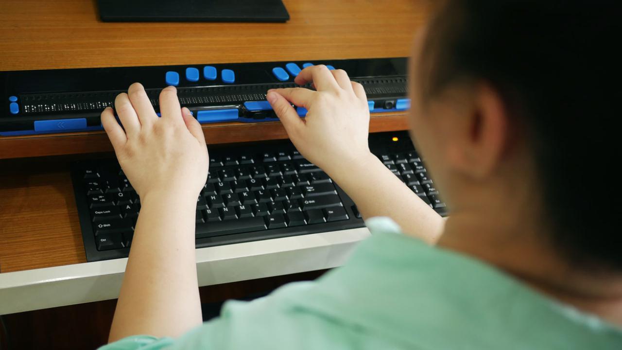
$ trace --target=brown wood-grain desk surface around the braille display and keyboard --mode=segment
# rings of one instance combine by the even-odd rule
[[[5,0],[0,70],[407,56],[426,4],[286,0],[285,24],[103,23],[95,1]],[[404,129],[399,113],[371,120],[371,131]],[[280,123],[203,130],[211,144],[287,137]],[[0,272],[86,261],[67,166],[76,156],[24,157],[109,151],[101,131],[0,138]]]

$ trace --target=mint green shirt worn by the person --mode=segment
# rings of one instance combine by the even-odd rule
[[[350,260],[316,281],[228,301],[179,339],[131,336],[100,350],[622,349],[622,329],[460,253],[373,218]]]

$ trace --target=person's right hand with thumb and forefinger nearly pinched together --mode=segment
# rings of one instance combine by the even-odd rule
[[[295,82],[312,82],[316,91],[279,88],[269,90],[267,100],[300,154],[332,177],[367,161],[369,106],[363,86],[325,65],[303,69]],[[290,103],[307,109],[304,120]]]

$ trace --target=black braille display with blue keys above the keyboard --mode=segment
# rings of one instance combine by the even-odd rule
[[[361,83],[371,113],[409,107],[404,57],[16,70],[0,72],[0,136],[102,130],[101,111],[134,82],[144,85],[156,112],[162,88],[175,85],[180,104],[200,123],[278,121],[267,90],[295,87],[300,69],[320,64]]]

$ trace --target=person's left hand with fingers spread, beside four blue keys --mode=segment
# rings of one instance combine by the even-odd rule
[[[207,180],[207,146],[201,125],[188,108],[180,108],[177,90],[160,93],[161,118],[140,83],[120,93],[114,106],[123,128],[112,108],[101,113],[101,124],[141,199],[165,192],[196,200]]]

